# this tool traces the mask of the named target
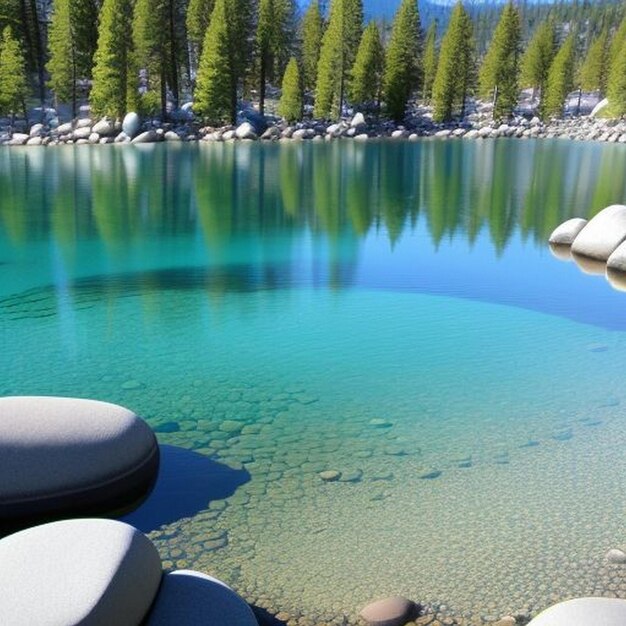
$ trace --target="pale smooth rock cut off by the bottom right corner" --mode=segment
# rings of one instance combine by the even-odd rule
[[[624,626],[626,600],[576,598],[546,609],[529,626]]]

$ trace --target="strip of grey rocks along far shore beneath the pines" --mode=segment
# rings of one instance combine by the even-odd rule
[[[110,118],[94,121],[78,119],[52,128],[34,124],[28,132],[0,133],[0,145],[57,146],[100,144],[145,144],[156,142],[236,142],[236,141],[330,141],[352,139],[570,139],[626,144],[626,120],[598,119],[592,116],[542,122],[538,117],[516,117],[509,123],[493,123],[488,115],[473,114],[457,124],[436,124],[429,114],[416,116],[406,126],[389,121],[368,121],[361,113],[352,119],[329,124],[319,120],[288,125],[278,122],[265,128],[243,121],[238,126],[200,127],[194,122],[142,123],[136,113],[123,122]]]

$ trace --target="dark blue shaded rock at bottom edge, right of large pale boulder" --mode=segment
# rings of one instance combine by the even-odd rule
[[[145,626],[258,626],[250,607],[222,581],[190,570],[163,576]]]

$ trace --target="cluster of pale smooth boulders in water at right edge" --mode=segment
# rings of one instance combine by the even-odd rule
[[[626,286],[626,205],[606,207],[587,222],[573,218],[552,232],[549,243],[561,260],[573,259],[588,274],[606,274],[609,282]]]

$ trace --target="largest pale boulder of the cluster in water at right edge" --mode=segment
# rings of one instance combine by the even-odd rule
[[[626,239],[626,205],[613,204],[598,213],[574,239],[572,252],[606,261]]]

